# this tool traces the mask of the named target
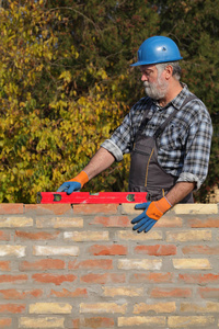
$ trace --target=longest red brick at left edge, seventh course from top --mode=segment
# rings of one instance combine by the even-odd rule
[[[4,299],[30,299],[38,298],[43,295],[42,290],[19,291],[19,290],[0,290],[0,296]]]

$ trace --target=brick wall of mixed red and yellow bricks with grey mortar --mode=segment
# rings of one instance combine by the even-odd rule
[[[219,328],[217,204],[0,204],[0,328]]]

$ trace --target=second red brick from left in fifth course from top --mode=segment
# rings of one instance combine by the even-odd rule
[[[64,270],[65,261],[59,259],[42,259],[34,262],[23,261],[20,264],[20,271],[46,271],[46,270]]]

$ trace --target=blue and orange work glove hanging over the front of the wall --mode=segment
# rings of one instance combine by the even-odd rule
[[[131,224],[136,224],[132,229],[138,232],[148,232],[171,207],[172,205],[165,196],[159,201],[137,204],[135,209],[145,209],[145,212],[131,220]]]

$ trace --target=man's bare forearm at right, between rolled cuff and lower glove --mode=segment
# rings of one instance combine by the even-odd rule
[[[173,189],[166,194],[169,202],[174,206],[181,202],[188,193],[191,193],[196,186],[196,183],[191,182],[178,182]]]

